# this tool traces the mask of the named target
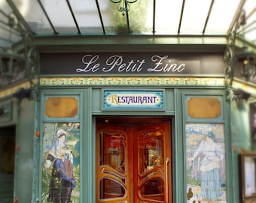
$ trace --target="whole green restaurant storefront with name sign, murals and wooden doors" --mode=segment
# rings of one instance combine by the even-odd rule
[[[2,85],[2,146],[15,143],[3,202],[241,201],[238,155],[252,146],[224,44],[38,44],[38,74]]]

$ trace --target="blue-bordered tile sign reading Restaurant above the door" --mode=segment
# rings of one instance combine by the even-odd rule
[[[139,90],[102,90],[103,110],[136,108],[163,111],[164,90],[139,91]]]

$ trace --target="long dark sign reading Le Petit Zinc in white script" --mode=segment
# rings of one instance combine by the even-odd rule
[[[221,53],[41,53],[41,74],[224,74]]]

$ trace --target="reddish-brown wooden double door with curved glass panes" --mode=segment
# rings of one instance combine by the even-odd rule
[[[168,120],[97,120],[96,202],[171,202],[170,146]]]

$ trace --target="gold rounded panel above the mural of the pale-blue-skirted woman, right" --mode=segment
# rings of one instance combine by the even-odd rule
[[[190,98],[187,101],[187,114],[198,119],[218,118],[221,116],[221,102],[218,98]]]

